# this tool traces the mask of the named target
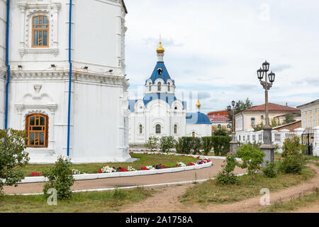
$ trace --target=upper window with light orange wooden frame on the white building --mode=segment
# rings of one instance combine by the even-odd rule
[[[49,47],[49,18],[43,15],[32,18],[32,47]]]

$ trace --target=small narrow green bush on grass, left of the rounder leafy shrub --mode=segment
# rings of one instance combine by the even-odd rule
[[[235,158],[235,155],[228,155],[225,160],[226,164],[224,164],[223,170],[220,170],[218,172],[218,175],[216,177],[216,181],[219,184],[237,184],[238,178],[233,173],[235,170],[236,165],[238,165],[238,162]]]

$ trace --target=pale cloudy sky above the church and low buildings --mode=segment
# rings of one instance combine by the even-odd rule
[[[126,0],[125,4],[130,98],[142,96],[142,85],[154,70],[159,34],[177,97],[186,99],[190,92],[198,92],[204,113],[225,109],[233,99],[249,97],[254,105],[263,104],[256,70],[264,60],[276,74],[270,102],[295,107],[319,98],[318,0]]]

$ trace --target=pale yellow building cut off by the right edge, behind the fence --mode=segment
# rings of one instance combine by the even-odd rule
[[[297,106],[297,108],[301,110],[303,128],[315,128],[319,126],[319,99]]]

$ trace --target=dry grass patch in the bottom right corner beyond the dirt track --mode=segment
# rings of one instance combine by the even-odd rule
[[[286,202],[281,201],[281,202],[272,204],[270,206],[265,206],[259,211],[262,211],[265,213],[296,211],[298,209],[301,209],[302,207],[311,206],[315,204],[316,202],[319,202],[318,188],[313,189],[313,192],[310,194],[298,196],[298,198],[291,199],[290,201],[286,201]]]

